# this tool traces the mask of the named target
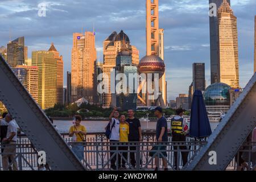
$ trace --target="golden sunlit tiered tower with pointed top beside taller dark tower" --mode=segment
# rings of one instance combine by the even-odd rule
[[[239,86],[237,18],[224,0],[218,9],[218,39],[220,48],[220,82],[232,88]]]

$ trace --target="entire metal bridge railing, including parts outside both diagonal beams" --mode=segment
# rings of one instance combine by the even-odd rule
[[[72,142],[72,138],[68,137],[67,134],[61,135],[72,149],[76,147],[76,145],[82,146],[83,154],[81,162],[88,170],[110,170],[111,160],[114,159],[117,168],[118,166],[122,166],[119,164],[121,164],[123,160],[126,170],[152,170],[155,167],[159,167],[159,169],[163,168],[162,160],[159,160],[159,163],[155,164],[155,156],[167,160],[169,170],[182,170],[189,165],[200,148],[207,143],[206,141],[195,141],[191,138],[187,138],[186,142],[172,142],[171,137],[168,138],[168,142],[157,143],[155,142],[154,133],[143,133],[143,142],[128,143],[110,143],[103,133],[88,134],[86,136],[86,142]],[[6,144],[1,144],[0,154],[2,157],[3,155],[7,155],[5,152],[6,146]],[[226,169],[253,170],[256,161],[256,153],[252,151],[253,146],[256,146],[256,143],[245,143]],[[110,150],[110,147],[112,147],[112,150]],[[166,147],[166,149],[161,147]],[[131,154],[133,152],[135,153],[135,160],[137,162],[135,167],[131,163]],[[125,153],[127,153],[127,157],[126,155],[122,155]],[[19,135],[14,155],[20,171],[38,170],[40,168],[38,165],[38,151],[36,151],[36,148],[31,144],[26,135]],[[183,164],[182,156],[183,158],[187,156],[187,164]],[[2,157],[0,158],[1,170],[3,169]]]

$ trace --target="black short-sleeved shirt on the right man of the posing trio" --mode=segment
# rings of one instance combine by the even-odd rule
[[[129,133],[129,140],[138,140],[139,141],[139,127],[141,127],[141,122],[139,119],[126,119],[127,123],[129,123],[130,133]]]

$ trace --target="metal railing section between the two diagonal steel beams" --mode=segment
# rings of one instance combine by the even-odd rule
[[[171,170],[180,170],[185,166],[181,154],[187,153],[188,161],[192,160],[206,142],[69,142],[71,146],[84,147],[84,159],[82,163],[88,170],[109,170],[111,160],[115,160],[114,169],[125,166],[126,170],[152,170],[155,167],[163,167],[162,160],[155,163],[158,157],[167,161]],[[181,149],[181,147],[187,149]],[[162,148],[164,147],[164,148]],[[176,149],[175,149],[176,147]],[[112,148],[112,149],[111,149]],[[126,149],[124,149],[126,148]],[[166,148],[166,149],[165,149]],[[81,152],[81,151],[80,151]],[[135,153],[136,166],[131,164],[131,154]],[[175,155],[175,152],[177,155]],[[127,154],[126,155],[124,154]],[[121,164],[121,161],[125,164]],[[175,162],[176,161],[176,162]]]

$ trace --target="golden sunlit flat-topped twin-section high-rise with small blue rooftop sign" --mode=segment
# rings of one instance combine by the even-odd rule
[[[85,98],[93,103],[96,97],[94,92],[94,72],[97,60],[94,32],[73,34],[73,48],[71,60],[71,101]]]

